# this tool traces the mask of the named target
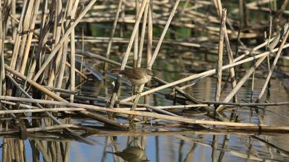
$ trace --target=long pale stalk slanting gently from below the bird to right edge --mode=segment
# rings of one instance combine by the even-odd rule
[[[281,49],[284,49],[284,48],[287,48],[287,47],[289,47],[289,44],[284,45]],[[276,49],[272,50],[272,52],[276,52],[277,50],[279,50],[279,48],[276,48]],[[268,54],[270,54],[270,52],[266,51],[266,52],[258,54],[256,56],[251,56],[249,58],[245,58],[244,60],[239,60],[237,62],[233,62],[233,64],[224,65],[222,67],[222,70],[229,69],[229,68],[235,67],[237,65],[242,65],[245,62],[250,62],[252,60],[256,60],[257,58],[261,58],[263,56],[267,56]],[[162,85],[162,86],[158,86],[158,87],[156,87],[154,89],[150,89],[148,91],[144,91],[144,92],[140,93],[140,96],[147,95],[149,93],[153,93],[153,92],[156,92],[156,91],[160,91],[161,89],[166,89],[166,88],[168,88],[170,86],[175,86],[176,84],[180,84],[182,82],[186,82],[186,81],[189,81],[189,80],[200,78],[202,76],[211,76],[214,73],[215,73],[215,69],[211,69],[211,70],[208,70],[208,71],[204,71],[202,73],[193,74],[192,76],[189,76],[189,77],[186,77],[186,78],[182,78],[181,80],[176,80],[175,82],[171,82],[169,84],[165,84],[165,85]],[[136,98],[136,95],[132,95],[131,97],[127,97],[127,98],[122,99],[120,101],[121,102],[128,102],[130,100],[133,100],[134,98]]]

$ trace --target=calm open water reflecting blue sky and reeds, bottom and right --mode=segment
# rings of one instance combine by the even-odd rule
[[[158,74],[157,74],[158,75]],[[257,80],[253,97],[256,98],[261,91],[264,80]],[[270,102],[286,102],[289,99],[286,89],[286,81],[272,80],[270,87]],[[123,87],[126,89],[127,87]],[[202,100],[214,100],[215,79],[206,78],[195,84],[188,90],[191,94]],[[225,94],[231,91],[225,91]],[[223,95],[223,97],[226,95]],[[250,100],[250,84],[246,84],[238,93],[239,99]],[[171,104],[164,102],[162,97],[158,97],[159,104]],[[268,111],[267,111],[268,110]],[[250,117],[248,108],[239,108],[241,122],[253,122],[284,126],[289,122],[288,106],[270,106],[266,111]],[[226,113],[229,115],[229,113]],[[287,117],[286,117],[287,116]],[[200,116],[202,117],[202,116]],[[149,125],[147,126],[149,127]],[[152,131],[164,131],[165,129],[153,129]],[[171,130],[170,128],[167,130]],[[255,132],[251,135],[236,135],[234,133],[226,135],[225,132],[204,132],[191,131],[187,133],[175,132],[169,135],[145,135],[135,136],[135,142],[127,145],[133,137],[118,136],[116,141],[111,142],[111,137],[92,137],[100,144],[98,146],[86,146],[83,143],[72,144],[75,148],[72,159],[76,157],[85,161],[102,159],[107,151],[121,152],[127,147],[140,145],[144,148],[149,161],[289,161],[289,136],[286,134],[258,135]],[[217,139],[213,147],[213,138]],[[224,140],[227,138],[228,140]],[[142,144],[141,144],[141,141]],[[226,141],[226,147],[222,147]],[[215,151],[213,151],[215,150]],[[213,155],[212,155],[213,154]],[[77,161],[77,160],[76,160]],[[97,160],[98,161],[98,160]],[[114,161],[113,154],[105,154],[105,161]]]

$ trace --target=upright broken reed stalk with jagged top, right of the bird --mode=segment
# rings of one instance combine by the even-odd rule
[[[223,66],[223,47],[224,47],[224,27],[226,25],[226,9],[222,10],[220,23],[220,38],[219,38],[219,49],[217,58],[217,82],[215,91],[215,101],[220,101],[221,89],[222,89],[222,66]]]

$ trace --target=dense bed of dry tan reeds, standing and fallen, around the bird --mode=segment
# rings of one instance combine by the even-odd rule
[[[235,115],[237,108],[289,105],[270,103],[264,97],[272,76],[288,84],[288,1],[277,6],[265,0],[0,2],[0,134],[11,136],[3,139],[3,161],[25,159],[24,139],[34,139],[32,151],[43,154],[45,161],[68,161],[73,139],[93,145],[95,141],[85,137],[169,134],[170,123],[185,128],[184,133],[289,132],[288,126],[238,122]],[[162,57],[178,60],[175,69],[193,71],[189,67],[196,56],[201,58],[197,63],[206,65],[213,58],[217,64],[171,82],[153,76],[153,82],[129,96],[122,95],[121,84],[131,84],[109,72],[125,67],[166,70],[156,65]],[[246,103],[237,92],[246,82],[251,82],[253,92],[260,71],[266,75],[264,86],[257,99]],[[186,91],[208,77],[216,78],[214,101]],[[88,78],[103,85],[97,90],[101,95],[83,95],[81,86]],[[111,78],[116,80],[113,89],[109,89]],[[224,95],[224,86],[231,92]],[[173,104],[152,104],[155,95]],[[74,119],[97,124],[76,124]],[[150,120],[166,123],[166,130],[142,132]],[[153,124],[151,128],[157,128]],[[11,147],[17,147],[17,154],[9,151]]]

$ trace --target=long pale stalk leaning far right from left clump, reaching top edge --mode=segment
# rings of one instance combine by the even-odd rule
[[[63,42],[68,38],[69,34],[72,32],[72,30],[74,30],[74,27],[76,27],[76,25],[81,21],[81,19],[83,18],[83,16],[85,16],[85,14],[88,12],[88,10],[92,7],[92,5],[94,5],[94,3],[97,0],[92,0],[90,1],[85,8],[83,9],[83,11],[81,12],[81,14],[79,14],[78,18],[74,21],[74,23],[69,27],[69,29],[67,29],[67,31],[65,32],[65,34],[61,37],[61,39],[59,40],[59,42],[57,43],[57,45],[54,47],[54,49],[52,49],[50,56],[48,56],[45,60],[45,62],[43,62],[43,65],[40,67],[39,71],[37,71],[37,73],[35,74],[33,80],[36,81],[39,76],[41,75],[41,73],[43,73],[44,69],[47,67],[47,65],[50,63],[50,61],[54,58],[54,56],[56,55],[57,51],[62,47]]]

